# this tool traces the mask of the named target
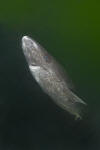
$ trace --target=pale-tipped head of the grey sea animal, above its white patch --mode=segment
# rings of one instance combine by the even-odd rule
[[[35,40],[29,36],[22,37],[22,49],[29,66],[46,67],[51,62],[51,56]]]

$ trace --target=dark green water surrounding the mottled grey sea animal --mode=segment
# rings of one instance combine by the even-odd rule
[[[23,35],[64,66],[88,104],[82,121],[56,106],[33,79]],[[0,149],[100,149],[100,1],[0,2]]]

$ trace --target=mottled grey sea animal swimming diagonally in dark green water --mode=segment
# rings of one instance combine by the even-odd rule
[[[36,41],[28,36],[22,38],[22,49],[29,69],[54,102],[64,110],[81,118],[81,105],[86,105],[69,88],[65,71],[60,64]]]

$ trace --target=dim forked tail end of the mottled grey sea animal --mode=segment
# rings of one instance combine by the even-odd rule
[[[72,91],[66,93],[66,98],[56,102],[61,108],[75,116],[75,120],[82,119],[87,113],[87,104]]]

